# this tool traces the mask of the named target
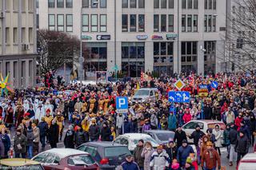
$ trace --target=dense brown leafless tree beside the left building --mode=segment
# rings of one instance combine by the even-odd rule
[[[38,64],[41,73],[72,64],[79,49],[78,38],[57,31],[38,30]]]

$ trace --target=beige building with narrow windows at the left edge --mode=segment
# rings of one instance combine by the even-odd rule
[[[13,88],[35,85],[36,15],[33,0],[0,0],[0,73]]]

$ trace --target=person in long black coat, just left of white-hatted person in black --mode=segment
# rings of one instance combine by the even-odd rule
[[[58,124],[55,120],[51,121],[49,128],[48,138],[50,142],[50,148],[57,148],[58,134],[59,134]]]

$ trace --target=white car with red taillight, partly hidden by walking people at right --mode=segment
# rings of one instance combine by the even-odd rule
[[[195,127],[199,125],[202,132],[206,133],[208,128],[215,128],[215,125],[219,125],[222,132],[222,144],[224,144],[223,140],[223,132],[226,129],[226,125],[222,121],[214,121],[214,120],[198,120],[198,121],[190,121],[182,126],[182,130],[186,132],[186,135],[191,135],[194,132]],[[189,143],[193,143],[193,140],[188,138]]]

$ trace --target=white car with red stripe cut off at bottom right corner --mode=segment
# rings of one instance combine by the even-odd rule
[[[238,164],[238,170],[252,170],[252,169],[256,169],[255,166],[256,166],[256,154],[247,153],[246,156],[243,156],[242,160],[240,160]]]

